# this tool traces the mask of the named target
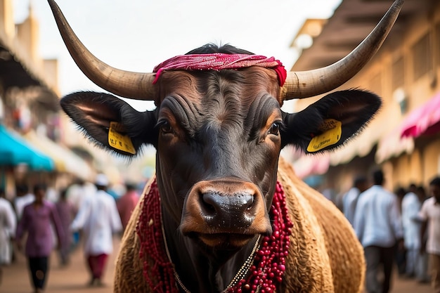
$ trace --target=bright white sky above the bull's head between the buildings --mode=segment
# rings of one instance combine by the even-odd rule
[[[98,90],[70,57],[46,0],[13,0],[15,23],[39,20],[39,53],[59,60],[62,95]],[[91,53],[122,70],[152,72],[155,65],[207,43],[231,44],[274,56],[290,70],[290,48],[306,18],[329,18],[341,0],[56,0]],[[133,102],[137,110],[151,103]]]

